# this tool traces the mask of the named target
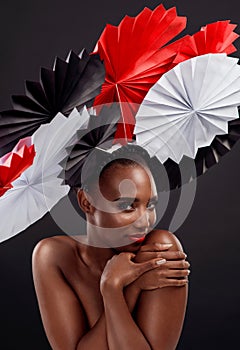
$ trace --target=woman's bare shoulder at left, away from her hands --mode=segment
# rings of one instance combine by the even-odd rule
[[[33,250],[33,266],[58,266],[76,251],[76,241],[69,236],[54,236],[41,240]]]

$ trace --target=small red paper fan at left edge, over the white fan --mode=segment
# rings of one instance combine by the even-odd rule
[[[32,165],[34,156],[34,145],[31,138],[26,137],[18,142],[12,152],[0,158],[0,196],[12,188],[11,183]]]

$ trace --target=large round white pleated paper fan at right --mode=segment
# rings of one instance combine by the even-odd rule
[[[164,163],[195,158],[228,133],[240,104],[238,59],[208,54],[180,63],[149,90],[136,116],[137,143]],[[150,128],[149,128],[150,126]]]

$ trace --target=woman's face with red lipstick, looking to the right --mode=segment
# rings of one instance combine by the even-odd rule
[[[149,169],[115,164],[92,195],[90,232],[105,247],[136,250],[156,221],[157,190]],[[92,229],[94,227],[94,229]],[[121,248],[122,247],[122,248]]]

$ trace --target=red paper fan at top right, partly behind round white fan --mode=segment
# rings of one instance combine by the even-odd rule
[[[230,21],[219,21],[202,27],[199,32],[192,36],[181,39],[181,47],[174,59],[173,65],[195,56],[208,53],[226,53],[227,55],[236,51],[233,42],[239,37],[234,32],[235,24]]]

